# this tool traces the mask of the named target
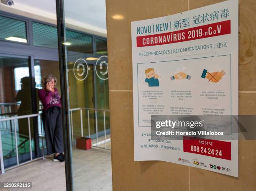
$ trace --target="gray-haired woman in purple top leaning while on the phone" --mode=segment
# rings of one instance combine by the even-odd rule
[[[54,86],[57,79],[47,75],[42,80],[43,89],[38,91],[38,96],[43,104],[42,120],[46,135],[47,154],[54,154],[55,162],[64,161],[64,145],[61,119],[61,97]]]

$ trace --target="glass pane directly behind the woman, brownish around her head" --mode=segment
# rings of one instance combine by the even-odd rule
[[[35,63],[34,69],[35,69],[36,91],[38,91],[38,89],[42,89],[41,81],[42,79],[44,79],[44,76],[52,74],[57,78],[57,84],[55,87],[59,90],[59,94],[61,94],[60,78],[59,78],[59,62],[49,61],[49,60],[35,60],[34,63]],[[41,113],[43,107],[42,107],[42,103],[39,101],[38,96],[37,96],[37,102],[38,102],[38,111],[39,113]],[[39,134],[39,146],[40,148],[45,148],[46,141],[45,141],[44,128],[39,118],[38,118],[38,134]]]

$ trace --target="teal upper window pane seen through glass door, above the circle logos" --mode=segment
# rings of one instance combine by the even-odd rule
[[[67,51],[81,52],[81,53],[93,53],[92,48],[92,36],[83,33],[77,33],[74,31],[66,31]]]

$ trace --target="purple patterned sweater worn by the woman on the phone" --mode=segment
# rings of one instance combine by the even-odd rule
[[[54,92],[39,89],[38,97],[43,104],[43,111],[49,109],[50,107],[59,106],[61,107],[61,97],[56,88],[54,88]]]

